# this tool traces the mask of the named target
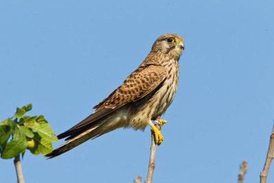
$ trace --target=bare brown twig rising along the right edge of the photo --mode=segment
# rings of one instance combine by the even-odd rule
[[[264,169],[260,173],[260,183],[266,182],[267,174],[269,173],[269,168],[273,160],[273,149],[274,149],[274,127],[271,132],[270,141],[269,141],[269,150],[267,151],[266,161],[264,163]]]

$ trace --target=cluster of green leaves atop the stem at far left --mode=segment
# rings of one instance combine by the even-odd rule
[[[0,121],[1,158],[14,158],[25,154],[26,149],[32,154],[47,154],[52,151],[52,141],[58,141],[51,126],[43,117],[27,116],[32,104],[16,108],[13,117]]]

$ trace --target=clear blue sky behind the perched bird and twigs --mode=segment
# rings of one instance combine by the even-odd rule
[[[32,103],[56,134],[87,117],[158,36],[185,38],[154,182],[259,182],[274,120],[274,1],[1,1],[0,119]],[[63,141],[54,143],[58,147]],[[132,182],[150,130],[115,130],[58,158],[25,154],[26,182]],[[0,160],[1,182],[16,182]],[[273,167],[269,182],[274,182]]]

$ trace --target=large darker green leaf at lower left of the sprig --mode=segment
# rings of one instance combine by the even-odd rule
[[[1,152],[1,158],[14,158],[27,149],[27,139],[21,130],[19,127],[15,128],[12,140],[5,145]]]

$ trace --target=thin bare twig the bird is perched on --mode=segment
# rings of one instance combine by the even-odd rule
[[[156,121],[158,121],[156,119]],[[160,125],[155,125],[155,127],[158,128],[158,130],[161,130]],[[156,154],[156,144],[155,144],[155,139],[154,139],[154,134],[151,131],[151,146],[150,146],[150,156],[149,156],[149,169],[147,170],[147,179],[145,180],[145,183],[152,183],[152,178],[153,178],[153,171],[155,169],[155,154]]]

